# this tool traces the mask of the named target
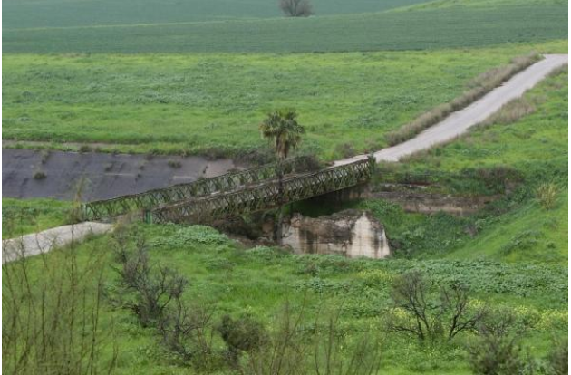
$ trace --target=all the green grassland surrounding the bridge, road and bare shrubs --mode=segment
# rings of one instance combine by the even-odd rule
[[[315,16],[286,19],[273,0],[5,0],[3,139],[11,147],[236,156],[266,149],[258,123],[268,111],[295,108],[307,130],[299,152],[336,159],[381,149],[388,131],[515,56],[567,53],[562,0],[312,3]],[[550,374],[547,355],[568,332],[567,80],[559,72],[468,135],[379,166],[375,182],[385,171],[411,172],[434,179],[428,191],[466,196],[497,194],[504,176],[518,177],[510,194],[473,216],[409,214],[379,199],[348,204],[382,222],[388,259],[247,249],[206,226],[121,218],[114,235],[4,264],[3,370],[106,373],[113,363],[120,375],[249,373],[230,361],[223,317],[256,322],[271,346],[289,305],[305,306],[294,335],[302,353],[287,359],[304,370],[294,373],[315,373],[312,361],[324,361],[315,348],[328,334],[345,361],[363,338],[379,344],[379,374],[472,373],[475,331],[422,343],[387,331],[404,313],[392,284],[420,271],[431,304],[442,302],[437,288],[460,283],[470,312],[485,305],[491,315],[513,315],[521,355]],[[545,184],[556,190],[550,209],[538,199]],[[68,223],[72,204],[3,198],[2,206],[5,238]],[[311,203],[299,207],[317,214]],[[145,326],[140,310],[127,308],[145,296],[131,293],[121,305],[120,272],[130,268],[121,268],[118,248],[144,248],[152,273],[168,266],[188,279],[168,312],[183,303],[208,350],[193,339],[189,356],[175,354],[157,324]],[[208,308],[201,326],[199,310]],[[207,357],[213,367],[198,370]]]

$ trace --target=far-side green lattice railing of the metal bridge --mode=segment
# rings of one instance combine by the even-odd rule
[[[305,172],[310,163],[310,157],[286,160],[283,166],[284,173]],[[276,164],[267,164],[257,168],[230,172],[215,178],[199,178],[193,182],[171,187],[86,203],[82,206],[83,217],[86,220],[99,220],[120,216],[135,210],[150,209],[192,197],[205,197],[220,191],[234,190],[238,187],[276,178],[276,176]]]

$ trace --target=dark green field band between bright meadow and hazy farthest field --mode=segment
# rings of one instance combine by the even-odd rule
[[[461,48],[566,39],[567,13],[566,3],[518,1],[515,5],[487,3],[305,19],[7,29],[3,52],[300,53]]]

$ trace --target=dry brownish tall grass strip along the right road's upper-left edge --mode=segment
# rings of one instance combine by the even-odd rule
[[[386,133],[385,139],[387,143],[394,146],[413,138],[422,130],[426,130],[441,120],[444,120],[453,111],[458,111],[470,103],[479,100],[501,83],[508,81],[509,78],[518,72],[523,71],[533,63],[537,63],[540,58],[541,56],[538,53],[529,53],[525,56],[514,58],[508,65],[500,66],[480,74],[472,80],[472,82],[469,82],[469,86],[471,86],[469,91],[465,91],[459,97],[448,103],[441,104],[431,111],[421,114],[416,120],[413,120],[402,128]]]

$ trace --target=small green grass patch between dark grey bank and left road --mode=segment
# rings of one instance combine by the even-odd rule
[[[54,199],[2,198],[2,238],[27,235],[69,222],[71,204]]]

